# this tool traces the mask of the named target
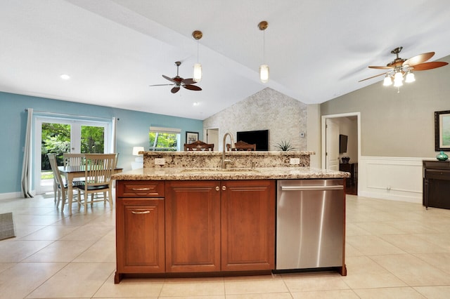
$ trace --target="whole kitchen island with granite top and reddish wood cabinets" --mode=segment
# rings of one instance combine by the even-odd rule
[[[122,277],[269,274],[276,269],[278,180],[338,179],[309,167],[311,152],[144,152],[116,174],[117,272]],[[342,192],[342,202],[345,194]],[[341,214],[345,230],[345,205]],[[345,236],[344,232],[342,235]],[[346,274],[345,238],[340,247]]]

